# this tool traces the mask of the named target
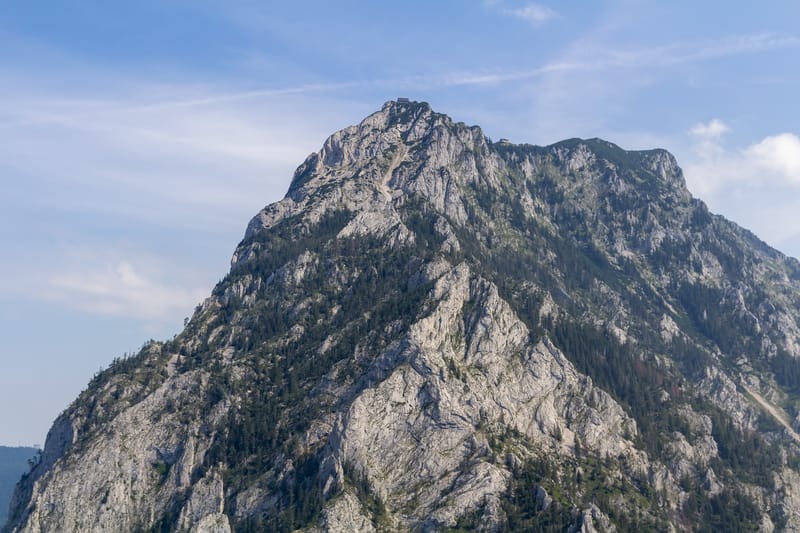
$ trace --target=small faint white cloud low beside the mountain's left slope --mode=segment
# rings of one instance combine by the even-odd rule
[[[29,248],[28,260],[0,267],[0,297],[150,324],[174,324],[208,296],[206,279],[179,251],[73,236],[50,248]],[[18,249],[9,243],[9,252]],[[220,261],[221,262],[221,261]],[[217,273],[218,275],[220,273]],[[218,279],[215,277],[213,279]]]

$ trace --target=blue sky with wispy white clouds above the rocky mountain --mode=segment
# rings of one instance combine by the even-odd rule
[[[0,4],[0,444],[177,333],[249,218],[398,96],[549,144],[663,147],[800,256],[800,4]]]

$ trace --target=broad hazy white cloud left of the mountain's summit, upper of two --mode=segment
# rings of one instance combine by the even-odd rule
[[[182,206],[250,205],[254,212],[260,207],[252,204],[254,192],[265,202],[276,199],[284,191],[270,194],[266,187],[285,189],[297,164],[329,133],[295,120],[286,99],[245,93],[202,102],[19,100],[0,104],[7,118],[0,123],[0,168],[47,184],[44,197],[61,205],[116,189],[98,209],[168,203],[176,219]]]

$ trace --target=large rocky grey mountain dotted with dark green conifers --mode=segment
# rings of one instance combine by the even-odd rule
[[[799,304],[664,150],[388,102],[92,379],[9,530],[798,530]]]

